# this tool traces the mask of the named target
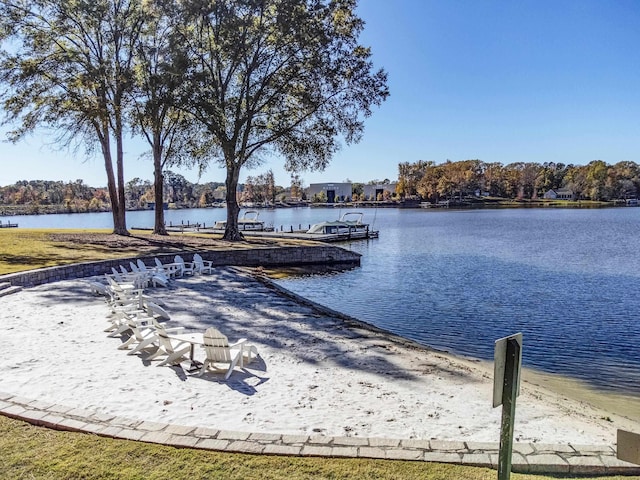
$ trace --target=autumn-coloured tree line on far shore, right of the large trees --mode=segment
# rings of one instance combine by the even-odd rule
[[[462,160],[436,165],[431,161],[398,165],[397,192],[438,202],[469,196],[537,199],[545,192],[565,188],[576,200],[609,201],[637,198],[640,166],[631,161],[609,165],[593,160],[587,165],[516,162],[508,165]]]

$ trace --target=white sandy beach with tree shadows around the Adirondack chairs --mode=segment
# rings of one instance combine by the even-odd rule
[[[108,307],[88,280],[25,289],[0,300],[0,391],[156,422],[226,430],[498,442],[487,365],[419,348],[284,296],[246,271],[149,289],[185,332],[217,327],[260,357],[201,377],[185,361],[118,350]],[[204,352],[196,350],[196,358]],[[613,444],[638,422],[524,383],[515,439]]]

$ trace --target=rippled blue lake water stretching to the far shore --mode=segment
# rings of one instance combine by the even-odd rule
[[[493,358],[523,332],[523,364],[640,397],[640,208],[424,211],[365,209],[377,240],[343,245],[360,268],[289,277],[285,288],[421,344]],[[210,224],[223,209],[167,211]],[[279,209],[260,218],[308,226],[338,209]],[[3,222],[8,220],[2,219]],[[111,214],[11,217],[20,227],[110,228]],[[130,212],[129,227],[153,212]]]

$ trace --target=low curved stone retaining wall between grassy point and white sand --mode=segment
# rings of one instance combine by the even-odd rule
[[[181,252],[185,261],[192,261],[193,254],[199,253],[204,260],[210,260],[215,266],[243,267],[283,267],[296,265],[360,265],[360,254],[344,248],[322,246],[253,248],[243,250],[203,250],[200,252]],[[154,257],[162,263],[173,262],[175,253],[140,257],[118,258],[98,262],[75,263],[58,267],[40,268],[26,272],[0,275],[0,282],[12,285],[32,287],[59,280],[93,277],[111,272],[118,265],[129,266],[130,261],[142,259],[147,265],[155,265]]]

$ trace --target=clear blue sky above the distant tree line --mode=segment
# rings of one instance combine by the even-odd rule
[[[324,181],[395,179],[400,162],[640,162],[640,2],[635,0],[360,0],[362,43],[389,74],[391,96],[344,146]],[[1,132],[0,132],[1,133]],[[99,157],[55,151],[51,137],[0,144],[0,185],[82,178],[106,184]],[[152,165],[127,148],[125,178]],[[247,174],[272,169],[274,157]],[[197,172],[180,171],[190,181]],[[200,182],[224,181],[211,166]]]

